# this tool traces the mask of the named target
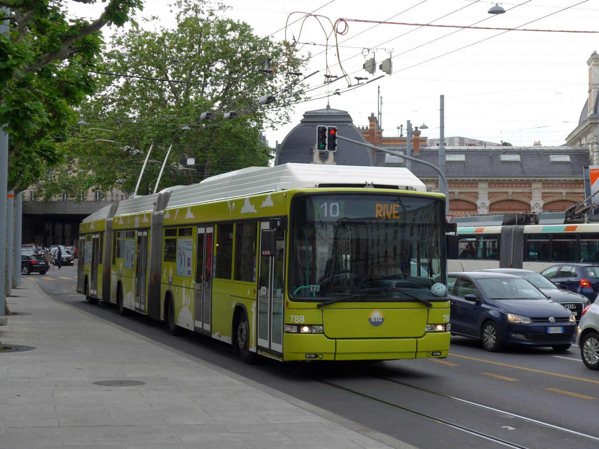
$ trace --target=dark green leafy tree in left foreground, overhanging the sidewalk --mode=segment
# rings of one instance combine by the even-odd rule
[[[62,161],[48,136],[65,132],[73,108],[95,92],[90,70],[102,50],[101,28],[122,26],[143,0],[102,3],[104,11],[88,22],[69,19],[62,0],[0,0],[0,123],[9,137],[9,190],[26,189]]]

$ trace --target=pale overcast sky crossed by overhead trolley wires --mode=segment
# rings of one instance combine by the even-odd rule
[[[410,121],[413,127],[428,126],[422,136],[438,138],[442,115],[446,138],[562,145],[588,95],[587,60],[599,51],[597,0],[503,2],[504,14],[489,14],[495,2],[482,0],[222,3],[231,7],[231,19],[247,22],[259,37],[295,39],[298,54],[313,55],[304,71],[304,76],[318,71],[305,80],[310,101],[295,105],[289,125],[267,130],[271,147],[306,111],[327,102],[347,111],[356,126],[368,126],[368,117],[378,116],[380,108],[387,137],[405,135]],[[162,0],[146,1],[142,15],[150,14],[174,28],[174,13]],[[338,19],[344,22],[334,28]],[[371,57],[374,74],[363,68]],[[389,57],[388,75],[379,64]],[[325,83],[327,73],[337,77],[329,78],[334,83]],[[368,79],[358,86],[355,77]]]

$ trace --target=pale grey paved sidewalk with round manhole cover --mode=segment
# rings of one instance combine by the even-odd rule
[[[35,349],[0,353],[2,449],[412,448],[22,282],[0,342]]]

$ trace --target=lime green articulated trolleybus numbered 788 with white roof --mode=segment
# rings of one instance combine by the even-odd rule
[[[444,201],[405,168],[216,175],[87,217],[77,292],[227,342],[247,363],[443,358]]]

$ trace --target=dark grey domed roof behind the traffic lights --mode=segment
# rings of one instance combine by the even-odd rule
[[[275,165],[288,162],[311,163],[314,157],[313,147],[316,145],[316,128],[319,125],[337,126],[338,135],[367,143],[362,133],[353,124],[352,117],[347,111],[330,107],[307,111],[299,124],[285,136],[279,145]],[[326,154],[326,151],[323,153]],[[323,160],[325,159],[326,157],[323,157]],[[374,166],[373,150],[341,139],[337,140],[334,160],[337,165]]]

